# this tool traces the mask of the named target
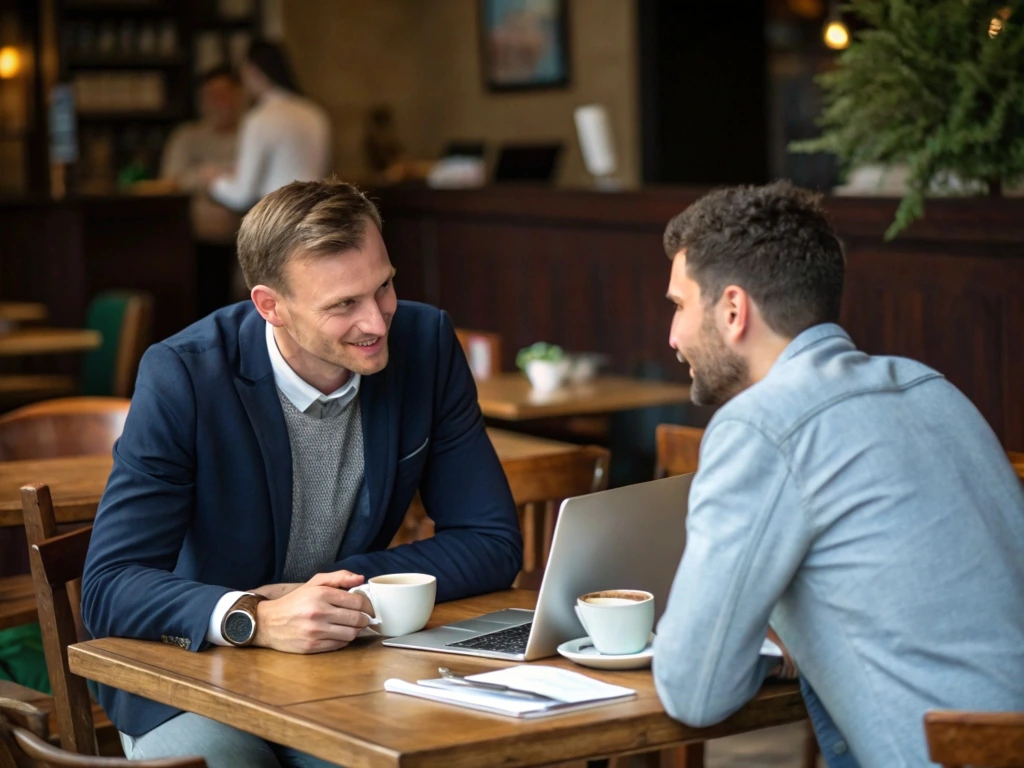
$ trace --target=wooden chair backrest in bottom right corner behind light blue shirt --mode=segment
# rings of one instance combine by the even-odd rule
[[[1024,712],[927,712],[925,736],[944,768],[1024,768]]]

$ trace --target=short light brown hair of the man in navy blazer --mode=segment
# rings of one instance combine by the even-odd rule
[[[246,285],[288,293],[285,264],[361,247],[367,224],[381,228],[377,206],[344,181],[293,181],[270,193],[242,219],[239,263]]]

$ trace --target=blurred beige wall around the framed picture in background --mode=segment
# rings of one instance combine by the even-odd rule
[[[572,110],[605,104],[627,184],[639,176],[636,0],[571,0],[568,88],[488,93],[480,75],[476,0],[286,0],[285,42],[308,95],[335,125],[335,167],[366,173],[366,112],[388,103],[417,157],[451,139],[560,139],[559,181],[587,184]]]

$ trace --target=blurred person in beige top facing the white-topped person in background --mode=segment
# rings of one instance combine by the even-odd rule
[[[174,129],[161,163],[161,179],[193,196],[196,297],[201,316],[231,300],[234,233],[242,217],[205,193],[209,175],[229,173],[234,166],[243,109],[238,76],[227,67],[210,70],[200,85],[200,119]]]

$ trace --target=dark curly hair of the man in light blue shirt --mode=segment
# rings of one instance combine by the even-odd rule
[[[665,229],[669,258],[683,249],[686,273],[700,287],[706,306],[735,285],[786,338],[839,322],[843,247],[819,197],[788,181],[700,198]]]

